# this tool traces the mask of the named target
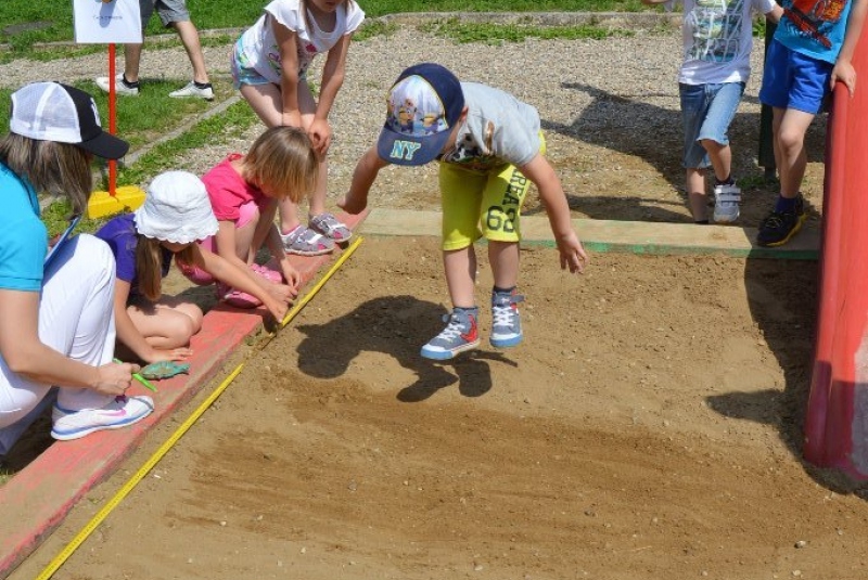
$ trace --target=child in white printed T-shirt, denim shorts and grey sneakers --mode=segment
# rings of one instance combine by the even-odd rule
[[[666,4],[672,0],[642,0]],[[739,219],[741,190],[732,177],[729,124],[736,116],[751,73],[752,11],[778,22],[775,0],[684,0],[684,63],[678,74],[685,131],[685,185],[697,223],[709,223],[704,170],[714,172],[714,221]]]

